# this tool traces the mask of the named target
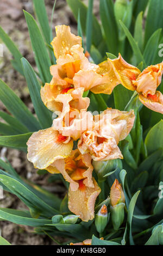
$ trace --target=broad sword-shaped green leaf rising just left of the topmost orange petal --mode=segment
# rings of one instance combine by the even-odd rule
[[[41,80],[43,83],[48,83],[52,79],[51,73],[49,71],[51,60],[48,56],[45,42],[43,41],[39,27],[37,26],[33,16],[27,13],[27,11],[24,11],[24,15],[26,17],[30,40],[32,43],[33,51],[35,53],[35,62],[37,68],[39,69]]]

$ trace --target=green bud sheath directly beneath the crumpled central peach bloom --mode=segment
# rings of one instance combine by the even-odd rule
[[[109,161],[93,161],[92,166],[98,176],[98,180],[104,181],[106,174],[114,171],[117,168],[122,169],[122,161],[120,159],[109,160]]]

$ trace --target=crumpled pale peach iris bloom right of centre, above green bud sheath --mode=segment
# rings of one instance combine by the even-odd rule
[[[134,111],[108,108],[93,119],[93,129],[84,131],[78,142],[80,152],[90,153],[95,161],[123,159],[118,142],[126,138],[133,127]]]

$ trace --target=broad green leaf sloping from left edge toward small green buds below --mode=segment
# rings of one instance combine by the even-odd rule
[[[54,214],[58,214],[58,210],[52,208],[41,198],[37,197],[26,186],[21,184],[21,181],[2,174],[0,174],[0,181],[2,184],[4,184],[4,186],[8,187],[13,194],[20,198],[22,202],[28,206],[28,208],[34,209],[43,216],[52,217]]]

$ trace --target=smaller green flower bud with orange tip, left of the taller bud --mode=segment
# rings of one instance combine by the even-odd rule
[[[101,209],[95,216],[95,225],[99,233],[102,233],[108,223],[108,210],[105,204],[102,205]]]

